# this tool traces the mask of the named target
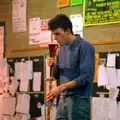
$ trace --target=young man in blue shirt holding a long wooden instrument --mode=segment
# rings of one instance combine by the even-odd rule
[[[94,47],[80,36],[75,36],[72,23],[65,15],[57,15],[49,23],[54,39],[60,44],[55,63],[55,79],[60,85],[47,95],[47,101],[60,95],[56,120],[90,120],[90,96],[94,78]]]

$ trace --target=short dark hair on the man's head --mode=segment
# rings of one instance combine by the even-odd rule
[[[64,31],[66,31],[69,28],[71,31],[71,34],[73,34],[72,23],[70,19],[66,15],[63,15],[63,14],[58,14],[54,18],[52,18],[48,22],[48,28],[49,30],[55,30],[58,28],[62,28]]]

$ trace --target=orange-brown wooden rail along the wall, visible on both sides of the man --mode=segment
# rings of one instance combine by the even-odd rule
[[[94,46],[99,45],[110,45],[110,44],[120,44],[120,40],[109,40],[109,41],[98,41],[98,42],[90,42]],[[48,49],[47,46],[44,47],[36,47],[36,48],[23,48],[23,49],[13,49],[12,53],[16,52],[27,52],[27,51],[37,51],[37,50],[45,50]]]

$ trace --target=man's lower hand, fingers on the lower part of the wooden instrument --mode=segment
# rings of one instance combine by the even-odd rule
[[[47,94],[47,102],[54,100],[55,97],[60,95],[60,93],[61,93],[60,86],[52,88],[50,92]]]

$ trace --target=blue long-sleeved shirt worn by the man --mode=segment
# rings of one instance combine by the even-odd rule
[[[62,95],[80,94],[83,97],[92,95],[94,79],[95,49],[80,36],[70,45],[61,46],[55,65],[55,79],[60,84],[75,80],[75,88],[64,91]]]

